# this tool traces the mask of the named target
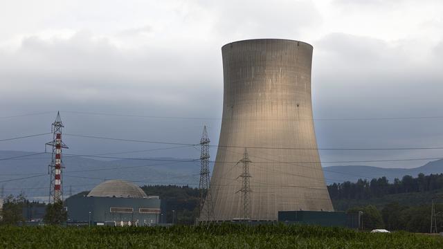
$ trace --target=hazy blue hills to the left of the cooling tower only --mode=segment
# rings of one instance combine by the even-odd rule
[[[35,154],[25,151],[0,151],[0,190],[5,195],[24,191],[30,199],[46,201],[48,196],[48,164],[50,154]],[[12,158],[1,160],[1,158]],[[179,158],[152,158],[153,160],[94,160],[79,156],[64,156],[64,194],[69,195],[91,190],[107,179],[131,179],[137,185],[199,183],[199,162],[174,162]],[[158,160],[158,161],[157,161]],[[183,159],[190,160],[190,159]],[[43,176],[38,176],[42,175]],[[37,176],[37,177],[33,177]],[[30,178],[28,178],[30,177]],[[9,181],[18,179],[18,181]]]

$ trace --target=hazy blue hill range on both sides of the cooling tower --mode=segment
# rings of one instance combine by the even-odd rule
[[[24,191],[31,199],[46,201],[48,195],[48,163],[50,154],[35,154],[26,151],[0,151],[0,187],[5,194],[18,194]],[[12,158],[1,160],[1,158]],[[174,162],[179,158],[150,158],[152,160],[95,160],[79,156],[64,156],[64,193],[69,195],[92,187],[106,179],[130,179],[137,185],[191,185],[199,183],[199,162]],[[158,161],[157,161],[158,160]],[[168,161],[171,160],[171,161]],[[190,159],[183,159],[190,160]],[[443,173],[443,160],[426,163],[413,169],[384,169],[372,166],[332,166],[325,167],[327,184],[333,182],[356,181],[359,178],[379,178],[386,176],[390,181],[406,174],[417,176]],[[43,176],[37,176],[43,174]],[[36,176],[36,177],[33,177]],[[31,178],[28,178],[31,177]],[[10,179],[21,178],[18,181]],[[1,188],[0,188],[1,189]]]

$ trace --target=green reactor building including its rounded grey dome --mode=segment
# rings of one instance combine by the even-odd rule
[[[66,199],[65,205],[68,223],[75,225],[156,225],[162,216],[159,196],[147,196],[122,180],[100,183],[86,196]]]

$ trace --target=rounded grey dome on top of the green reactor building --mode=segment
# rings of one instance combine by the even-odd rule
[[[120,197],[120,198],[147,198],[145,192],[135,185],[122,180],[110,180],[100,183],[89,192],[88,197]]]

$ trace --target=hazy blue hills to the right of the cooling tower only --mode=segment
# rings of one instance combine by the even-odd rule
[[[373,166],[331,166],[324,167],[323,172],[327,183],[343,183],[344,181],[355,182],[359,178],[366,178],[369,180],[372,178],[379,178],[386,176],[390,182],[394,181],[394,178],[401,178],[405,175],[417,176],[419,173],[425,175],[428,174],[441,174],[443,173],[443,159],[435,160],[421,167],[415,167],[411,169],[386,169]]]

